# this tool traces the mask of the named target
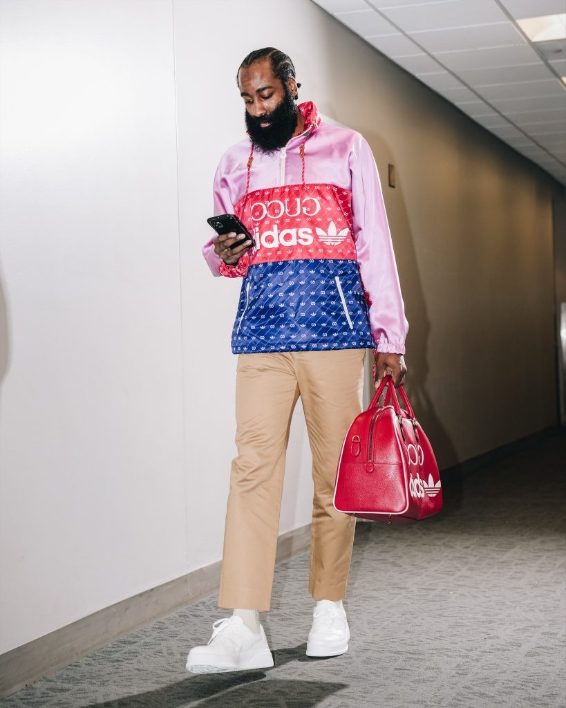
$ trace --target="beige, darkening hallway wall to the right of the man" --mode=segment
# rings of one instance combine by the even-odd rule
[[[552,426],[562,188],[333,18],[320,23],[328,51],[309,61],[302,96],[374,149],[410,323],[408,390],[439,462]]]

